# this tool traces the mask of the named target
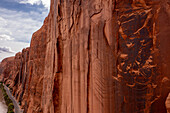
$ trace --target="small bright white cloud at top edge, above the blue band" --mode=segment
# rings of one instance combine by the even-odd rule
[[[37,4],[37,5],[40,5],[41,3],[46,7],[46,8],[50,8],[50,0],[20,0],[19,3],[22,3],[22,4]]]

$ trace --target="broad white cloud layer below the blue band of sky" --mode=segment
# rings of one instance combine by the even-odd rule
[[[29,47],[32,34],[43,24],[48,10],[15,11],[0,7],[0,61]]]

